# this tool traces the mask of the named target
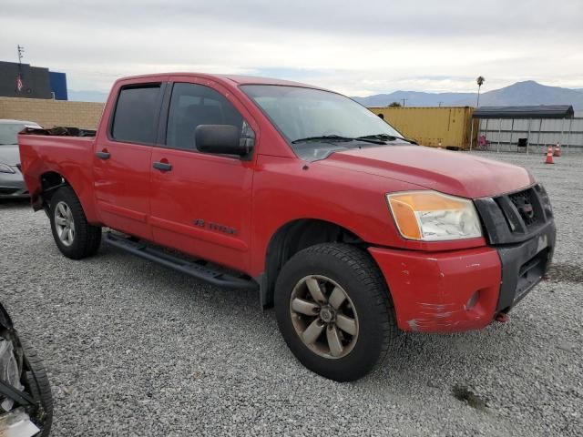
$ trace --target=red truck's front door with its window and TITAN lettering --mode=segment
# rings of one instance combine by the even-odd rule
[[[246,270],[254,159],[199,152],[194,130],[199,125],[241,130],[250,115],[220,86],[188,80],[172,86],[165,146],[152,150],[153,237],[163,246]]]

